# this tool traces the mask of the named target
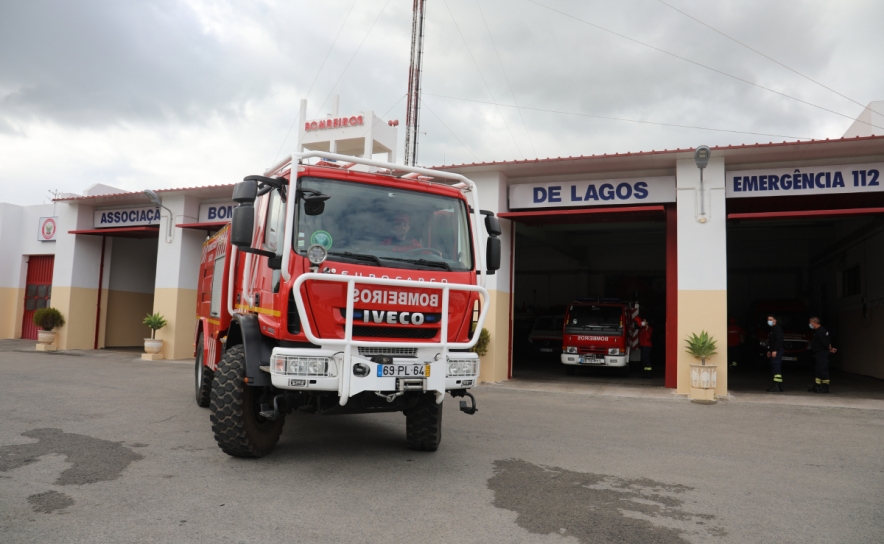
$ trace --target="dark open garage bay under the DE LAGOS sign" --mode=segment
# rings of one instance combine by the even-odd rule
[[[559,213],[517,220],[514,378],[612,383],[644,380],[662,385],[666,358],[666,215],[663,206],[653,208],[625,215],[602,212],[575,217]],[[572,308],[576,301],[584,307]],[[573,315],[566,324],[569,309]],[[589,323],[604,324],[607,319],[611,327],[588,327],[586,334],[616,335],[622,330],[627,342],[624,347],[637,343],[637,337],[630,342],[633,318],[640,315],[647,319],[653,329],[654,346],[650,379],[643,376],[637,346],[630,348],[627,360],[631,362],[625,368],[599,364],[600,360],[575,366],[562,364],[563,327],[566,333],[574,332],[572,323],[580,326],[585,322],[583,317],[591,317],[593,311],[598,317]],[[582,313],[578,316],[578,312]],[[590,351],[589,346],[586,348],[580,348],[581,361],[584,352]],[[625,354],[620,351],[620,355]]]

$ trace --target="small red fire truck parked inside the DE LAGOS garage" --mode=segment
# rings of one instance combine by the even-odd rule
[[[638,305],[619,300],[577,299],[565,313],[562,364],[568,374],[578,366],[613,367],[629,372],[637,331]]]

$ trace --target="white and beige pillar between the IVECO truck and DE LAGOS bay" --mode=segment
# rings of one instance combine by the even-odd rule
[[[494,212],[495,215],[507,211],[507,179],[500,172],[488,172],[470,176],[479,190],[479,207]],[[469,199],[469,195],[467,195]],[[472,203],[471,203],[472,204]],[[485,244],[488,233],[485,230],[484,218],[476,225],[479,232],[479,247],[482,262],[485,262]],[[482,357],[480,382],[500,382],[510,377],[511,310],[512,297],[512,237],[515,233],[512,221],[500,220],[503,233],[500,236],[501,256],[500,270],[492,276],[486,276],[485,289],[490,296],[488,317],[485,327],[491,334],[488,353]]]

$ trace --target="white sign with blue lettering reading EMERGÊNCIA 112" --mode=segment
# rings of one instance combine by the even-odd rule
[[[727,173],[727,198],[872,193],[884,190],[884,163],[740,170]]]

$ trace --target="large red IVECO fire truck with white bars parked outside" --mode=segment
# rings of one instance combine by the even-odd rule
[[[246,177],[233,200],[203,246],[195,333],[196,400],[221,449],[266,455],[297,410],[404,412],[408,446],[435,451],[446,392],[476,411],[469,350],[500,266],[475,184],[309,152]]]

